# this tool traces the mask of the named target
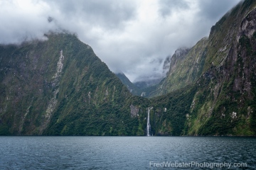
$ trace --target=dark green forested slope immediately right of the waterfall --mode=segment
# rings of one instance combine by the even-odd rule
[[[195,93],[195,86],[186,86],[152,99],[155,114],[151,117],[154,118],[151,128],[154,135],[186,135],[183,129]]]

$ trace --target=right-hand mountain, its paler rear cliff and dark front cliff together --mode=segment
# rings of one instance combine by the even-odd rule
[[[151,96],[196,88],[187,94],[193,100],[182,115],[182,134],[256,135],[255,7],[256,1],[242,1],[211,28],[209,38],[171,57],[166,79]]]

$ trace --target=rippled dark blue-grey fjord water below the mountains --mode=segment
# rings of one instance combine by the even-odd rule
[[[0,137],[0,145],[0,169],[256,169],[253,137]]]

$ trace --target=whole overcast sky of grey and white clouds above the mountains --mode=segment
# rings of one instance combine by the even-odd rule
[[[239,1],[0,0],[0,43],[43,38],[63,28],[77,33],[112,72],[134,81],[161,74],[167,56],[208,36]]]

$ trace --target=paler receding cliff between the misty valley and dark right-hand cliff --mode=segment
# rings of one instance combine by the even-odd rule
[[[164,81],[151,91],[149,96],[168,94],[195,82],[202,74],[206,58],[208,38],[203,38],[196,45],[176,50],[171,57],[170,69]]]

